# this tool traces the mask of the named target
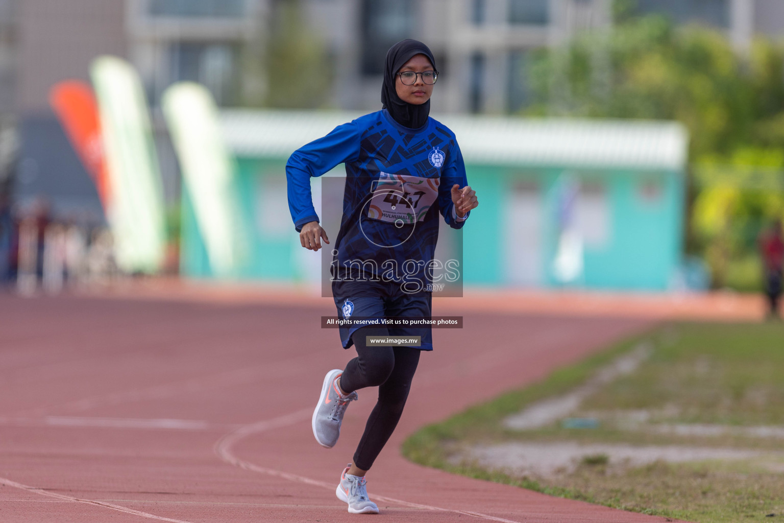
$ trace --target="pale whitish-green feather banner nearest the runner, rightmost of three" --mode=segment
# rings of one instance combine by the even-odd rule
[[[245,234],[235,169],[215,101],[204,86],[180,82],[165,90],[162,108],[212,271],[223,277],[236,274],[246,250]]]

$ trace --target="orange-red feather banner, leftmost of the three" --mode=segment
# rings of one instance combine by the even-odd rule
[[[103,140],[100,131],[98,104],[93,89],[78,80],[66,80],[55,84],[49,91],[49,104],[60,118],[68,139],[93,178],[108,217],[111,207],[111,183],[103,155]]]

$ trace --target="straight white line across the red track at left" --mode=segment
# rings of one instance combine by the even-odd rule
[[[92,418],[85,416],[45,416],[43,418],[0,418],[0,426],[10,427],[107,427],[121,429],[226,430],[233,423],[209,423],[198,419]]]

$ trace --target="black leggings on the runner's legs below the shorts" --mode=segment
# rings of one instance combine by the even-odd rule
[[[412,347],[368,347],[365,336],[387,336],[387,329],[363,327],[354,332],[351,337],[358,355],[346,365],[340,376],[340,388],[350,394],[379,386],[379,400],[354,452],[354,465],[370,470],[397,427],[422,351]]]

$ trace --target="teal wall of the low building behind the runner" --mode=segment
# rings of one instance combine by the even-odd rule
[[[328,267],[328,251],[317,254],[299,245],[285,203],[284,166],[285,158],[238,161],[235,179],[250,231],[249,257],[235,274],[238,279],[318,282]],[[338,166],[333,174],[343,176],[342,170]],[[466,285],[648,291],[673,285],[683,250],[682,173],[481,164],[466,170],[482,202],[459,231],[463,249],[457,259]],[[572,212],[584,247],[582,274],[568,282],[554,272],[566,179],[581,186]],[[315,186],[324,187],[324,180],[314,180]],[[332,180],[342,191],[343,179]],[[333,205],[338,215],[341,191]],[[335,238],[339,216],[320,209],[319,194],[314,189],[321,223]],[[183,204],[180,272],[213,278],[188,194]],[[441,223],[441,234],[447,230]]]

